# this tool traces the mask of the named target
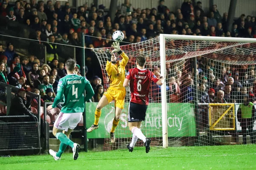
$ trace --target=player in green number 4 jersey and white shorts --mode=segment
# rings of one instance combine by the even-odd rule
[[[52,130],[53,135],[61,141],[60,148],[58,152],[49,150],[56,161],[61,159],[61,154],[68,145],[72,147],[73,159],[78,158],[80,146],[72,142],[69,135],[81,120],[85,102],[94,95],[90,82],[85,77],[75,74],[76,61],[74,59],[67,60],[65,69],[67,76],[59,80],[56,98],[53,104],[47,108],[48,111],[55,108],[64,96],[64,105]],[[84,90],[87,92],[86,96],[84,96]]]

